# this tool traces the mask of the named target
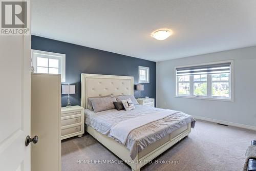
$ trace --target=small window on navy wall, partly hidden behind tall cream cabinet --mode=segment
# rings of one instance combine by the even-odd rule
[[[32,64],[36,73],[61,74],[61,82],[66,81],[65,54],[32,50]]]

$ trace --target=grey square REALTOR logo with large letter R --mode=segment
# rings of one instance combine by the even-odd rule
[[[29,35],[29,1],[1,2],[1,35]]]

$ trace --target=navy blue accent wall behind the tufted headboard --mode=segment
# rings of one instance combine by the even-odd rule
[[[98,49],[69,44],[32,35],[31,49],[66,54],[66,82],[75,84],[76,94],[70,95],[72,105],[80,105],[81,73],[133,76],[138,84],[138,66],[150,67],[150,83],[144,84],[141,96],[156,98],[156,62],[120,55]],[[139,92],[134,86],[134,95]],[[67,95],[61,96],[61,105],[66,106]]]

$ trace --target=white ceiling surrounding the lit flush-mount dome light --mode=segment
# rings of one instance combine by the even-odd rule
[[[31,2],[33,35],[152,61],[256,45],[255,0]]]

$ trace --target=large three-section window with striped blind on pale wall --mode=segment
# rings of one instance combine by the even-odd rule
[[[233,101],[233,61],[176,67],[176,96]]]

